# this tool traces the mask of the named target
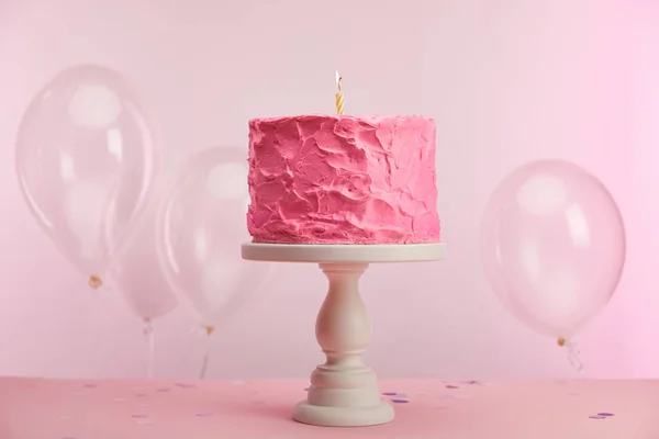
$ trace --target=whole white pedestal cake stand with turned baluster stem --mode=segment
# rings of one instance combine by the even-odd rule
[[[393,420],[393,407],[381,398],[375,372],[361,361],[371,323],[359,295],[359,278],[369,262],[432,261],[443,259],[444,254],[444,244],[243,244],[243,259],[316,262],[330,280],[315,327],[326,362],[311,374],[308,398],[298,404],[293,419],[328,427]]]

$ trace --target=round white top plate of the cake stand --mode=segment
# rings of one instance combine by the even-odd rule
[[[243,244],[243,259],[271,262],[421,262],[444,259],[446,245]]]

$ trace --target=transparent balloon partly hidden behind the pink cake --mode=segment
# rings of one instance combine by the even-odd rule
[[[258,292],[270,263],[245,261],[246,150],[198,154],[167,196],[159,222],[159,256],[181,303],[212,331]]]

